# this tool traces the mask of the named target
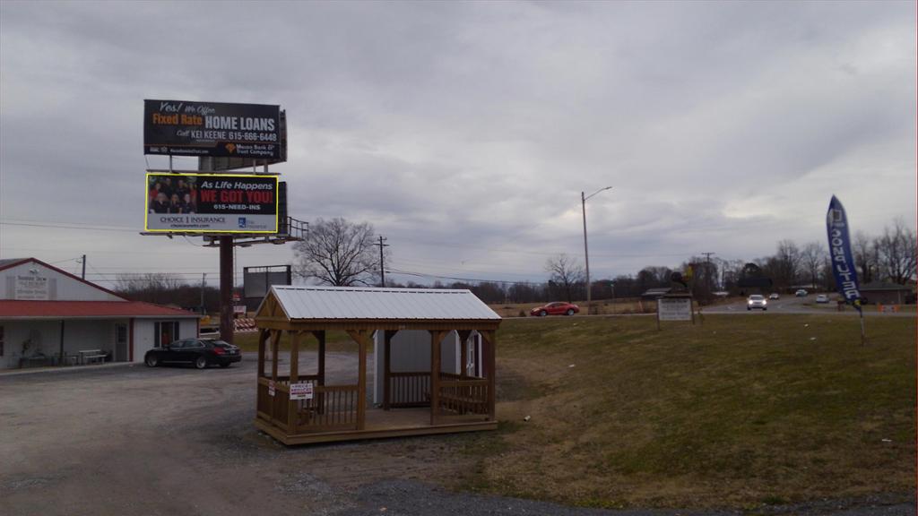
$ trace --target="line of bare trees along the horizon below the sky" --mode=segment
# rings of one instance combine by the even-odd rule
[[[346,219],[317,219],[309,226],[308,238],[294,245],[297,278],[331,286],[379,286],[380,256],[377,235],[368,222]],[[857,231],[851,242],[860,284],[885,282],[906,285],[914,280],[916,267],[915,231],[902,219],[894,219],[879,235]],[[543,282],[452,281],[430,284],[401,283],[386,278],[386,286],[425,288],[467,288],[486,303],[535,303],[577,301],[587,297],[586,275],[575,257],[559,254],[546,260]],[[681,282],[674,282],[674,273]],[[776,252],[753,260],[724,260],[691,256],[669,267],[648,265],[634,275],[617,275],[590,282],[594,300],[640,297],[648,289],[675,287],[690,290],[700,301],[710,301],[718,292],[744,295],[766,288],[787,293],[798,287],[834,291],[829,253],[821,241],[798,245],[782,240]],[[118,275],[116,291],[135,300],[197,307],[201,287],[185,284],[175,275]],[[218,309],[218,289],[205,288],[207,311]]]

